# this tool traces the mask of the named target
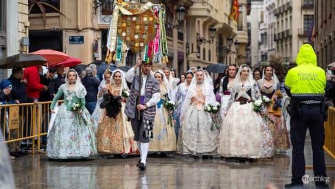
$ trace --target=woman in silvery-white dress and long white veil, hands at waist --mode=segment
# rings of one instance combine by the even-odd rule
[[[177,153],[183,155],[214,155],[218,148],[218,129],[211,130],[211,117],[205,112],[207,104],[216,105],[213,86],[205,72],[196,71],[181,108]]]

